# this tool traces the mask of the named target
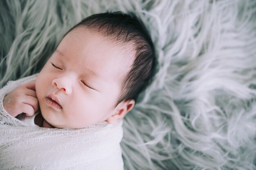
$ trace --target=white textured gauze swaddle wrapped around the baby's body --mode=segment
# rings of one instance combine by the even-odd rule
[[[29,127],[3,107],[5,94],[37,74],[9,81],[0,89],[0,169],[123,170],[122,122],[83,129]]]

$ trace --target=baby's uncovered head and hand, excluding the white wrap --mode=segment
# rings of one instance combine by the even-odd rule
[[[4,97],[4,109],[17,118],[40,111],[34,120],[40,127],[115,125],[150,83],[155,62],[148,31],[135,15],[92,15],[66,33],[36,81]]]

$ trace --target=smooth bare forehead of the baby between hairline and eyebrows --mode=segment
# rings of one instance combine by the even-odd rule
[[[135,56],[132,44],[115,41],[113,36],[105,36],[83,27],[67,33],[56,52],[63,56],[72,56],[73,59],[66,60],[72,65],[79,63],[93,72],[104,70],[107,74],[112,73],[117,76],[119,80],[130,71]],[[109,60],[112,65],[106,65],[110,64],[107,62]],[[87,72],[86,68],[78,72]],[[106,70],[107,68],[109,70]]]

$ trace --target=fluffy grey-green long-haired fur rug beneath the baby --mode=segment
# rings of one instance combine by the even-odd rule
[[[0,87],[94,13],[134,11],[158,72],[123,124],[129,170],[256,169],[255,0],[1,0]]]

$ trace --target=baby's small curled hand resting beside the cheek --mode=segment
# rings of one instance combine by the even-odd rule
[[[35,81],[19,85],[4,97],[4,109],[13,117],[20,113],[33,116],[38,110]]]

